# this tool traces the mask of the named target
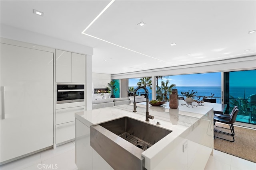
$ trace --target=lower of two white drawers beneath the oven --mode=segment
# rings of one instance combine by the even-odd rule
[[[56,144],[75,138],[75,121],[56,125]]]

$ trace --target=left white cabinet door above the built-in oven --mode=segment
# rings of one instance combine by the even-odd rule
[[[56,49],[56,82],[72,82],[72,53]]]

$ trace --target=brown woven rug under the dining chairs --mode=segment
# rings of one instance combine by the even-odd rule
[[[216,123],[217,126],[229,128],[229,125]],[[214,126],[214,129],[222,129]],[[243,127],[236,127],[234,142],[225,141],[223,139],[214,139],[214,149],[227,154],[231,154],[252,162],[256,163],[256,130],[246,129]],[[223,129],[222,129],[223,131]],[[227,131],[230,133],[230,130]],[[221,137],[228,140],[233,140],[229,135],[224,135],[222,133],[214,132],[216,137]]]

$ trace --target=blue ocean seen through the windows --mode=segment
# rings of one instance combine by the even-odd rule
[[[134,89],[136,89],[137,86],[134,86]],[[214,98],[221,98],[221,87],[220,86],[176,86],[175,87],[178,90],[179,96],[181,95],[181,92],[186,92],[190,90],[194,90],[196,93],[196,96],[211,96],[211,94],[214,94]],[[149,92],[149,99],[152,100],[152,90],[148,88]],[[144,89],[139,89],[137,92],[144,93]],[[233,96],[234,98],[242,98],[248,99],[250,95],[256,94],[256,87],[230,87],[230,96]],[[220,100],[217,99],[217,103],[220,103]]]

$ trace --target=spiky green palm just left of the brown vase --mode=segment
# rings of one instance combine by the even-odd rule
[[[172,92],[172,88],[175,86],[176,84],[171,84],[169,86],[169,80],[166,80],[166,82],[161,81],[161,87],[157,86],[156,99],[169,102],[168,95]]]

